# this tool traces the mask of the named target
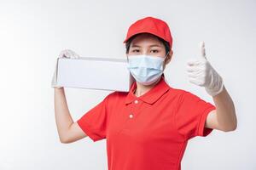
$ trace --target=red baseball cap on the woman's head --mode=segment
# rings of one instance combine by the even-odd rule
[[[137,20],[129,27],[124,43],[130,37],[143,32],[151,33],[166,40],[166,42],[169,42],[170,49],[172,49],[172,35],[169,26],[165,21],[150,16]]]

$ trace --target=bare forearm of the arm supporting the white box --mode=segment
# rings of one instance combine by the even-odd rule
[[[73,118],[67,107],[64,88],[55,88],[55,122],[61,142],[66,141],[69,127]]]

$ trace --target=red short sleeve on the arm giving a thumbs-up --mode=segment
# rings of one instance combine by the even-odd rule
[[[195,94],[184,92],[177,102],[174,116],[177,131],[186,139],[192,139],[195,136],[206,137],[212,132],[212,128],[205,127],[207,115],[215,109],[214,105]]]

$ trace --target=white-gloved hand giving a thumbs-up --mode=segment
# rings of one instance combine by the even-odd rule
[[[188,61],[187,73],[189,82],[206,88],[208,94],[212,97],[222,92],[224,82],[218,75],[206,57],[205,43],[201,42],[201,56],[199,59]]]

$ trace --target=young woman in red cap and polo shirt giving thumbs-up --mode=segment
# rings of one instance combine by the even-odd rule
[[[224,82],[207,61],[188,63],[189,81],[206,88],[214,104],[172,88],[163,71],[172,59],[172,35],[166,22],[137,20],[125,38],[127,69],[135,78],[129,93],[113,92],[73,122],[62,87],[55,86],[55,120],[61,143],[89,136],[106,139],[109,170],[180,170],[189,139],[206,137],[212,129],[236,129],[236,111]],[[71,50],[61,57],[79,57]]]

